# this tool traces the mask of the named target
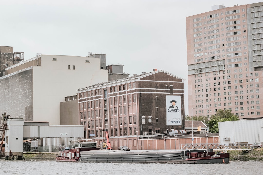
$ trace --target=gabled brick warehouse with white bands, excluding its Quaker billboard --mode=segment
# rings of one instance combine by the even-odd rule
[[[166,125],[166,96],[181,98],[182,125]],[[163,70],[99,83],[78,90],[80,125],[84,137],[105,142],[108,129],[112,148],[140,147],[138,137],[184,129],[184,79]]]

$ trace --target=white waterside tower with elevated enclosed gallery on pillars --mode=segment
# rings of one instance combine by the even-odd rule
[[[14,160],[15,156],[17,160],[22,160],[24,138],[45,138],[43,142],[47,140],[49,143],[58,138],[65,138],[67,147],[68,138],[84,136],[84,126],[81,125],[49,125],[48,122],[24,121],[7,117],[4,120],[6,160],[8,157]],[[31,144],[34,144],[32,147],[38,147],[38,141],[32,141]],[[52,152],[52,144],[49,144],[49,151]]]

